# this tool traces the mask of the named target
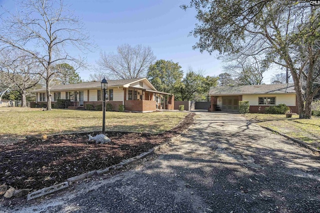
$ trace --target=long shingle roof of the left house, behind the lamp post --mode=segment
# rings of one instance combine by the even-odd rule
[[[144,77],[143,77],[144,78]],[[143,78],[132,78],[132,79],[121,79],[121,80],[107,80],[108,87],[110,86],[123,86],[125,84],[132,83]],[[100,88],[101,82],[84,82],[77,84],[60,84],[52,86],[50,91],[63,91],[63,90],[77,90],[77,89],[89,89],[89,88]],[[36,89],[32,92],[42,92],[45,91],[45,88]]]

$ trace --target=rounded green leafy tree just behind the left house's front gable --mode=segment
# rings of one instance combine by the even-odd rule
[[[146,78],[159,91],[174,93],[179,88],[183,71],[178,63],[157,60],[149,66]]]

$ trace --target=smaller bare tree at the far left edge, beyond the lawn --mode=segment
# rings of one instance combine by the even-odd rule
[[[17,91],[21,95],[21,107],[26,107],[28,89],[34,87],[39,79],[38,61],[32,55],[11,49],[0,53],[0,76],[8,85],[8,89]]]

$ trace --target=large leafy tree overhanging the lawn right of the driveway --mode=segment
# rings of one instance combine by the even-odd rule
[[[182,5],[188,7],[196,9],[199,21],[191,32],[199,38],[193,48],[259,54],[288,68],[299,118],[311,118],[312,98],[320,90],[320,7],[292,0],[191,0]]]

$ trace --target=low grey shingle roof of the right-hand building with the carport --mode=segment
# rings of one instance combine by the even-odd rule
[[[281,94],[295,93],[294,84],[261,84],[210,87],[209,95]]]

